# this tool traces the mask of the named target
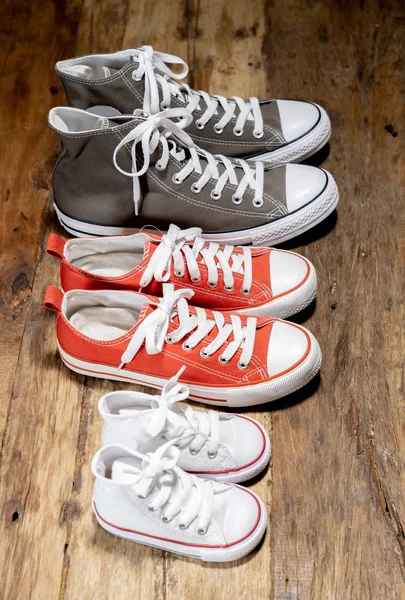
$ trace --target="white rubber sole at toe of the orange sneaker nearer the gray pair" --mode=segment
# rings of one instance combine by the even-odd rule
[[[314,301],[317,292],[317,279],[315,267],[309,263],[309,275],[305,282],[296,290],[280,298],[275,298],[266,304],[257,307],[233,310],[234,314],[249,315],[253,317],[274,317],[276,319],[287,319],[292,315],[304,310]],[[226,312],[226,311],[224,311]]]

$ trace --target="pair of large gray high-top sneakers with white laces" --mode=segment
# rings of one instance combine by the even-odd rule
[[[186,63],[150,46],[61,61],[56,70],[70,107],[49,114],[62,142],[54,202],[73,235],[176,223],[201,227],[211,241],[274,245],[338,202],[327,171],[285,164],[328,141],[330,121],[316,104],[192,90],[177,81]]]

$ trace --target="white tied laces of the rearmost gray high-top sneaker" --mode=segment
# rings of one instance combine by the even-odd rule
[[[187,63],[178,56],[156,52],[152,46],[142,46],[134,51],[131,58],[138,63],[132,73],[133,79],[140,81],[144,78],[145,80],[143,110],[146,113],[155,114],[170,108],[174,96],[186,104],[190,113],[195,110],[203,113],[195,122],[197,129],[204,129],[214,115],[218,116],[218,109],[221,108],[223,114],[214,125],[215,133],[220,135],[229,121],[237,116],[233,129],[236,136],[243,135],[248,120],[254,123],[253,135],[256,138],[263,136],[263,116],[257,98],[243,100],[239,96],[232,96],[227,99],[219,95],[211,96],[202,90],[193,90],[185,83],[180,84],[176,80],[186,77]],[[168,64],[181,65],[182,69],[176,73],[167,66]]]

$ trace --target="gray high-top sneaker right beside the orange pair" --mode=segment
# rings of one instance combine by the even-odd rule
[[[173,119],[176,119],[173,120]],[[76,236],[201,227],[223,244],[274,245],[322,221],[338,202],[329,173],[306,165],[265,170],[197,147],[185,108],[100,117],[53,108],[62,141],[53,172],[56,211]]]

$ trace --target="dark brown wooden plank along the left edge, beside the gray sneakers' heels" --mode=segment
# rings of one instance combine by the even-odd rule
[[[0,438],[3,438],[57,141],[46,127],[62,93],[52,64],[72,51],[79,2],[0,6]],[[69,42],[66,42],[66,38]],[[69,49],[70,46],[70,49]]]

